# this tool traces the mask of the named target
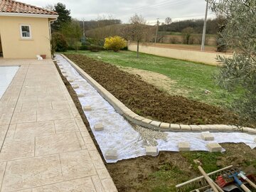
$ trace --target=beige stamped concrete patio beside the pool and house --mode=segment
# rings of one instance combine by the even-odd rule
[[[1,191],[117,191],[52,60],[20,65],[0,100]]]

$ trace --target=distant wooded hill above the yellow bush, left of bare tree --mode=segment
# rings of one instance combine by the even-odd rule
[[[98,21],[84,21],[85,24],[85,31],[94,29],[94,28],[100,28],[104,26],[111,26],[114,24],[120,24],[122,23],[119,19],[101,19]],[[83,21],[80,21],[81,28],[83,27]]]

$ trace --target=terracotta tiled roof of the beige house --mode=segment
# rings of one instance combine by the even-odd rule
[[[31,6],[13,0],[0,0],[0,14],[33,14],[58,16],[54,11],[49,11],[37,6]]]

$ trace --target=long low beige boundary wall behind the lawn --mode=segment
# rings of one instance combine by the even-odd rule
[[[137,44],[129,43],[128,49],[137,51]],[[147,53],[151,55],[158,55],[166,58],[176,58],[181,60],[189,60],[198,63],[205,63],[208,65],[218,65],[216,58],[217,55],[225,56],[230,58],[233,54],[230,53],[215,53],[198,50],[184,50],[184,49],[173,49],[173,48],[159,48],[154,46],[139,46],[139,52]]]

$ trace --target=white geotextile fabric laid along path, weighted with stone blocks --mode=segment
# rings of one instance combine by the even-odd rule
[[[71,85],[79,85],[75,89],[77,93],[84,93],[85,97],[79,97],[82,106],[90,105],[92,111],[86,111],[85,116],[92,127],[95,139],[105,156],[107,149],[117,149],[118,159],[105,159],[107,163],[114,163],[122,159],[131,159],[137,156],[146,155],[142,138],[132,125],[127,122],[122,115],[117,113],[110,105],[82,76],[68,63],[61,55],[57,55],[58,64],[63,65],[68,79],[73,79]],[[97,123],[102,123],[104,130],[96,132],[93,127]],[[201,139],[201,133],[195,132],[166,132],[168,134],[166,142],[158,139],[159,151],[178,151],[178,142],[189,142],[191,151],[208,151],[208,142]],[[243,142],[252,149],[256,147],[255,135],[245,133],[213,133],[218,143],[240,143]],[[223,149],[225,151],[225,149]]]

